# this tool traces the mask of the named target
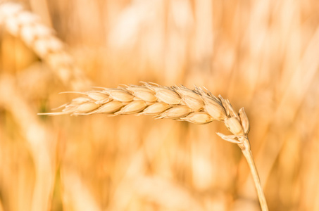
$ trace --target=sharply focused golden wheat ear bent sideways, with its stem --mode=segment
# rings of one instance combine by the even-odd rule
[[[257,189],[259,202],[263,211],[268,210],[261,181],[256,170],[247,134],[249,120],[244,108],[236,113],[230,101],[215,97],[210,91],[183,86],[162,87],[154,83],[142,82],[142,86],[123,85],[116,89],[99,88],[99,90],[77,93],[82,96],[73,99],[59,108],[61,112],[40,113],[40,115],[152,115],[156,119],[170,118],[195,124],[206,124],[213,120],[224,122],[232,135],[217,133],[225,141],[237,143],[246,158]]]

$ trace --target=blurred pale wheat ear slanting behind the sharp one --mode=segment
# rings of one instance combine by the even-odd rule
[[[0,25],[15,37],[20,37],[39,58],[49,64],[61,81],[74,90],[87,89],[90,82],[74,64],[63,41],[56,37],[41,18],[26,11],[17,2],[0,1]]]

